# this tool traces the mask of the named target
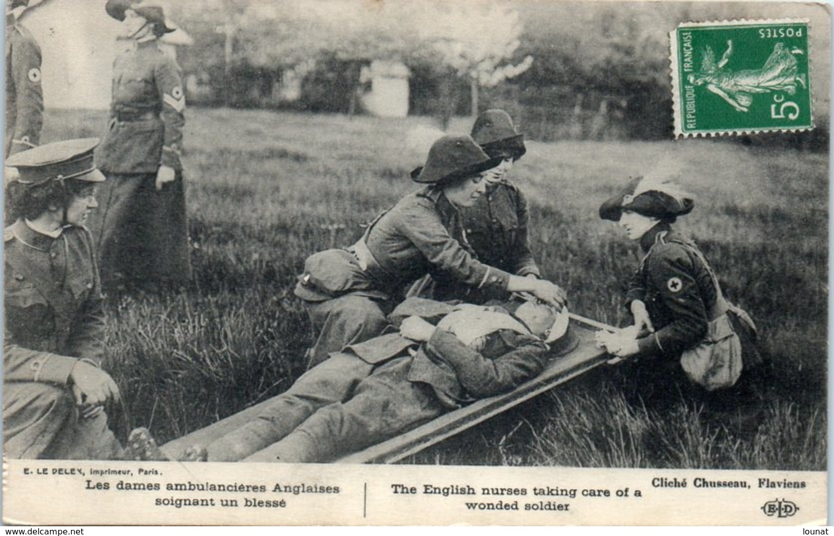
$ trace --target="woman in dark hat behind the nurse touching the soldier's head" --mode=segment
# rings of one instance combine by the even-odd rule
[[[487,175],[485,195],[472,206],[460,208],[466,239],[484,264],[516,276],[539,278],[541,273],[530,251],[527,233],[530,220],[527,200],[507,176],[513,164],[527,152],[524,134],[515,129],[510,114],[490,109],[475,119],[471,136],[487,156],[499,159],[500,163]],[[415,171],[419,172],[419,169]],[[441,301],[460,299],[470,303],[505,298],[462,286],[459,281],[432,280],[430,277],[415,283],[409,295]]]

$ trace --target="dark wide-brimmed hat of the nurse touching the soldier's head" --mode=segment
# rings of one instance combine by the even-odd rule
[[[500,163],[500,158],[490,158],[470,136],[447,134],[431,145],[425,165],[414,169],[411,179],[426,185],[444,185]]]

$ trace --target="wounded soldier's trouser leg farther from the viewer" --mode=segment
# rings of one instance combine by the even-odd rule
[[[237,462],[269,447],[321,407],[349,399],[354,390],[374,370],[373,365],[347,353],[334,353],[318,367],[310,369],[274,397],[254,421],[208,445],[208,461]]]

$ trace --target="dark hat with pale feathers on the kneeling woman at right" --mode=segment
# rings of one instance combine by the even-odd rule
[[[647,182],[643,177],[631,179],[619,194],[600,206],[600,218],[620,221],[623,210],[631,210],[650,218],[669,220],[689,214],[695,207],[692,195],[679,185],[671,181]]]

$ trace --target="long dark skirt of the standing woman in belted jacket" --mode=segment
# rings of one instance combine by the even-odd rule
[[[105,289],[191,279],[182,173],[156,190],[156,174],[108,174],[89,227]]]

